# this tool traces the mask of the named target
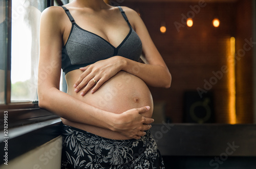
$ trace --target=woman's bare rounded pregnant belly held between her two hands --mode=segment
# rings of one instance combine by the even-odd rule
[[[83,101],[84,103],[112,113],[122,113],[132,108],[150,106],[151,109],[142,115],[146,117],[152,116],[152,95],[147,85],[140,78],[126,73],[125,71],[120,71],[114,77],[106,81],[93,94],[88,92],[86,95],[81,96],[80,92],[74,92],[73,88],[73,85],[81,72],[82,71],[78,69],[73,70],[66,75],[68,94]],[[78,124],[66,119],[62,119],[62,121],[66,125],[73,126],[102,137],[111,139],[128,139],[127,137],[110,130],[85,124]]]

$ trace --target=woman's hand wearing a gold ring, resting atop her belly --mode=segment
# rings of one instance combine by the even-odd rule
[[[81,91],[81,95],[86,94],[95,84],[91,93],[94,93],[105,81],[115,76],[122,69],[122,57],[114,56],[109,59],[100,60],[86,67],[81,67],[83,73],[76,81],[75,92]]]

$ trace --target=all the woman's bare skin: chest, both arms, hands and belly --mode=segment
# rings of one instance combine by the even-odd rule
[[[116,7],[106,5],[101,0],[75,0],[66,5],[66,7],[75,18],[77,25],[101,36],[114,46],[118,46],[126,37],[127,32],[129,32],[129,27],[127,27],[127,23],[122,18],[120,11]],[[134,11],[128,8],[124,9],[127,10],[127,14],[131,13],[129,16],[133,17],[133,15],[135,15]],[[135,22],[136,21],[131,22],[134,29],[136,29],[135,25],[140,27],[143,23],[141,21],[138,23]],[[104,27],[102,27],[102,25],[104,25]],[[63,93],[59,91],[61,49],[68,40],[70,30],[70,20],[62,8],[50,7],[42,13],[38,70],[39,106],[62,117],[64,124],[81,128],[94,134],[113,139],[139,139],[145,134],[144,130],[151,128],[149,124],[153,122],[152,118],[148,118],[151,117],[153,110],[148,106],[153,108],[153,101],[150,91],[143,81],[149,85],[157,86],[154,85],[155,79],[151,79],[154,78],[154,76],[158,77],[161,75],[159,77],[159,79],[162,79],[160,84],[164,87],[169,87],[171,80],[168,69],[165,67],[153,42],[146,42],[150,39],[150,36],[147,31],[143,33],[145,27],[142,25],[142,29],[140,31],[138,30],[138,32],[141,32],[139,36],[142,39],[142,43],[143,41],[145,42],[146,48],[152,47],[151,49],[153,49],[153,51],[143,50],[148,60],[151,60],[154,64],[150,63],[150,67],[140,65],[141,70],[139,73],[133,73],[133,70],[130,69],[138,63],[121,56],[115,56],[101,62],[99,61],[90,67],[70,71],[66,75],[69,90],[68,93]],[[147,55],[147,53],[152,52],[153,55]],[[108,89],[113,89],[113,85],[118,84],[120,79],[124,76],[132,79],[131,84],[124,83],[125,79],[121,81],[125,89],[130,87],[130,91],[119,89],[119,96],[113,97],[114,99],[110,101],[107,99],[107,105],[113,104],[114,106],[102,107],[102,104],[97,102],[99,96],[108,94]],[[94,86],[95,84],[91,80],[94,77],[97,77],[98,81],[96,86]],[[79,81],[84,83],[80,83]],[[74,84],[77,84],[77,86],[75,86],[76,91],[73,87]],[[140,86],[138,87],[140,90],[136,88],[136,85]],[[89,91],[92,86],[97,87],[93,89],[94,93],[86,92]],[[81,94],[78,92],[81,89],[86,91],[83,91]],[[138,95],[132,95],[131,91],[136,89],[138,91],[134,93]],[[129,95],[129,93],[131,95]],[[128,102],[124,97],[126,95],[130,97],[130,101]],[[122,99],[120,100],[120,98]],[[117,103],[121,103],[122,106],[116,106],[118,105]]]

